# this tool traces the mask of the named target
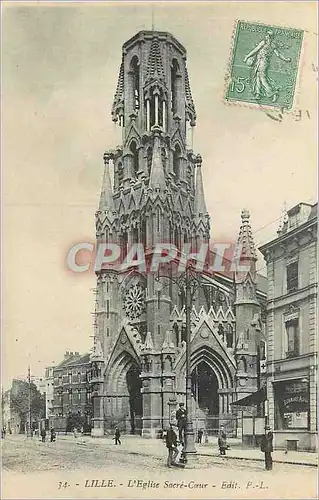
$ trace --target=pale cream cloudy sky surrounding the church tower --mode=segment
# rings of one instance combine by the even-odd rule
[[[153,11],[153,14],[152,14]],[[286,203],[315,202],[315,2],[2,4],[3,384],[92,345],[95,277],[67,271],[94,243],[103,152],[120,143],[110,111],[122,44],[171,32],[187,49],[211,236],[233,242],[248,208],[256,245],[276,236]],[[297,115],[282,122],[224,101],[236,20],[305,30]],[[265,272],[260,256],[259,269]]]

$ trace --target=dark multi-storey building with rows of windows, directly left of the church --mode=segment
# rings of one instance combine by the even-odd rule
[[[70,432],[91,425],[90,355],[67,351],[64,360],[53,368],[53,416],[50,426]]]

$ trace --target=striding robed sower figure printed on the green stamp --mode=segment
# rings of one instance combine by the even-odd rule
[[[272,55],[275,54],[285,62],[291,62],[289,57],[284,57],[274,43],[274,32],[267,31],[265,38],[244,58],[244,62],[252,67],[251,86],[255,99],[269,97],[272,102],[278,99],[278,88],[275,82],[269,77],[269,65]]]

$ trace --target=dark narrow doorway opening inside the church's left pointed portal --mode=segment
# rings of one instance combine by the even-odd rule
[[[127,388],[130,402],[131,434],[141,434],[142,432],[142,382],[140,370],[136,365],[132,365],[126,374]]]

